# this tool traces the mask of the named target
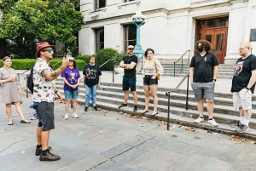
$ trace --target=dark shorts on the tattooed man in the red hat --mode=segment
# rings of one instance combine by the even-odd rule
[[[43,131],[55,128],[54,103],[42,101],[38,103],[38,127],[42,127]]]

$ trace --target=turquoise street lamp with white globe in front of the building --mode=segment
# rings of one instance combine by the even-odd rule
[[[137,26],[137,40],[136,45],[134,49],[134,54],[137,55],[137,57],[140,57],[144,54],[142,45],[140,43],[141,38],[141,32],[140,27],[145,24],[145,16],[142,14],[142,12],[138,11],[135,15],[132,16],[132,23]]]

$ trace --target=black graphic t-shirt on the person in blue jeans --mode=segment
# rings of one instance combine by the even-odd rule
[[[102,76],[102,71],[99,66],[90,66],[90,64],[87,64],[84,66],[83,74],[86,76],[89,74],[88,77],[85,77],[84,83],[88,87],[92,87],[99,83],[99,76]]]

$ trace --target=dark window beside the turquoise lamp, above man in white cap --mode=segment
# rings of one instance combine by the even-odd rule
[[[137,27],[135,25],[125,25],[125,51],[128,45],[136,45]]]

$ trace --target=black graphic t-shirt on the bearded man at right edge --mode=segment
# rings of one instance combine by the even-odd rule
[[[247,85],[252,77],[252,71],[256,70],[256,56],[250,54],[246,59],[239,58],[236,61],[234,76],[232,79],[231,92],[239,92],[242,88],[247,88]],[[255,83],[251,91],[254,92]]]

